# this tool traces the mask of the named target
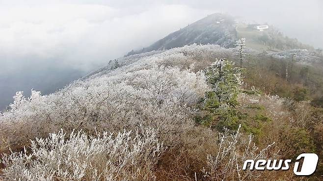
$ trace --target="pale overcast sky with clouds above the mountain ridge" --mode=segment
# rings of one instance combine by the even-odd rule
[[[65,85],[216,12],[323,47],[322,0],[0,0],[0,108],[15,91]]]

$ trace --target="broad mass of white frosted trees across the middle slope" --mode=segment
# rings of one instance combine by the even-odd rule
[[[0,151],[61,128],[118,132],[143,124],[159,128],[162,137],[193,129],[190,115],[210,90],[201,69],[233,55],[218,45],[189,45],[119,59],[121,67],[101,68],[50,95],[18,92],[12,109],[0,115]]]

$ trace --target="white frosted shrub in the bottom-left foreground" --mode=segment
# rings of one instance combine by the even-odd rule
[[[62,131],[31,141],[30,152],[5,155],[0,179],[16,181],[154,180],[154,168],[165,150],[157,130],[140,127],[117,135]]]

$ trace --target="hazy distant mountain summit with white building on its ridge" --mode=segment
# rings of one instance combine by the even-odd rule
[[[266,28],[259,29],[262,26]],[[273,25],[247,24],[243,23],[243,21],[236,21],[232,16],[215,13],[170,33],[150,46],[132,50],[125,57],[192,44],[214,44],[231,48],[235,47],[236,41],[241,38],[246,38],[248,48],[258,52],[276,53],[293,49],[314,51],[313,46],[305,45],[298,42],[297,39],[289,38]]]

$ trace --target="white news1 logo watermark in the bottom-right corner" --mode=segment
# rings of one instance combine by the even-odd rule
[[[299,164],[299,160],[303,159],[303,164]],[[303,153],[298,155],[294,165],[294,174],[299,176],[308,176],[315,172],[316,166],[318,164],[319,157],[315,153]],[[290,168],[289,163],[292,159],[258,159],[257,161],[253,159],[247,159],[243,163],[242,170],[246,170],[249,167],[250,170],[288,170]],[[248,166],[249,165],[249,166]]]

